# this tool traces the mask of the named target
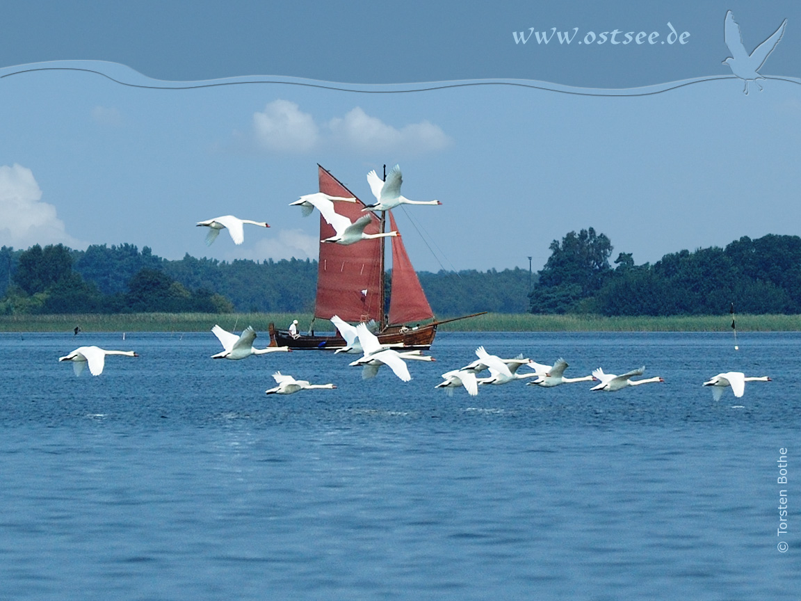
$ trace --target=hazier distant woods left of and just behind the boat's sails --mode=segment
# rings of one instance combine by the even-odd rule
[[[437,315],[527,309],[521,269],[419,275]],[[0,248],[0,314],[312,313],[316,282],[316,260],[166,260],[133,244]]]

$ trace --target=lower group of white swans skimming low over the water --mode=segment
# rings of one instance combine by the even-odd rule
[[[392,370],[401,381],[411,381],[412,375],[409,373],[409,366],[406,361],[436,361],[434,357],[423,354],[420,350],[404,350],[403,348],[393,348],[392,345],[382,345],[378,337],[368,329],[366,324],[350,325],[336,315],[331,319],[332,324],[340,332],[345,341],[345,346],[336,349],[332,355],[337,353],[360,355],[358,359],[349,365],[362,368],[362,379],[368,380],[379,372],[382,365],[386,365]],[[240,360],[252,355],[264,355],[267,353],[291,352],[287,346],[268,346],[264,349],[257,349],[253,346],[256,340],[256,331],[251,327],[244,329],[243,333],[237,336],[235,333],[227,332],[215,325],[211,333],[217,337],[223,345],[223,351],[211,355],[212,359]],[[314,352],[314,351],[309,351]],[[327,351],[320,351],[327,352]],[[93,376],[103,373],[107,355],[121,355],[123,357],[139,357],[133,351],[119,351],[100,349],[97,346],[81,346],[72,351],[65,357],[60,357],[58,361],[70,361],[76,376],[83,372],[88,365],[89,371]],[[505,385],[513,381],[527,380],[527,385],[541,386],[542,388],[553,388],[562,384],[570,384],[585,381],[597,381],[590,390],[602,392],[617,392],[618,390],[637,387],[642,384],[664,382],[662,377],[649,377],[644,379],[633,379],[645,373],[645,366],[639,369],[632,369],[630,372],[621,375],[606,373],[598,368],[591,375],[582,377],[565,377],[565,370],[569,367],[567,361],[559,358],[553,365],[537,363],[524,357],[522,354],[511,359],[503,359],[497,355],[492,355],[480,346],[476,349],[475,361],[461,368],[452,369],[442,374],[442,381],[434,388],[445,389],[447,393],[453,394],[453,390],[464,388],[470,396],[476,396],[478,390],[484,385]],[[521,373],[521,368],[525,369]],[[480,377],[481,373],[489,372],[489,375]],[[296,380],[294,377],[280,373],[272,374],[277,386],[265,390],[267,394],[292,394],[301,390],[309,389],[336,389],[336,385],[310,384],[306,380]],[[731,388],[735,397],[742,397],[745,393],[746,382],[751,381],[771,381],[770,377],[747,377],[742,372],[718,373],[709,381],[703,382],[703,386],[712,387],[712,395],[715,401],[719,401],[723,396],[724,390]]]

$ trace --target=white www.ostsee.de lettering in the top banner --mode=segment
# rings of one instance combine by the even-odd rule
[[[690,32],[678,30],[667,22],[665,30],[657,31],[623,31],[614,29],[611,31],[587,31],[584,36],[578,34],[578,27],[567,31],[559,31],[556,27],[551,27],[549,30],[537,30],[536,27],[529,27],[528,30],[513,31],[512,37],[514,43],[518,46],[529,44],[529,42],[536,43],[538,46],[542,45],[570,45],[578,44],[580,46],[654,46],[657,44],[679,44],[685,45],[689,42]],[[532,44],[533,45],[533,44]]]

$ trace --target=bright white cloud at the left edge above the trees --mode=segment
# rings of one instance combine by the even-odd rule
[[[27,167],[0,166],[0,244],[28,248],[33,244],[79,246],[64,230],[52,204],[42,203],[42,190]]]

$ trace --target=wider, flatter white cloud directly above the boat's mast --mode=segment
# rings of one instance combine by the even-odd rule
[[[328,127],[333,135],[358,151],[436,151],[451,143],[445,132],[429,121],[396,129],[371,117],[361,107],[354,108],[343,119],[332,119]]]

